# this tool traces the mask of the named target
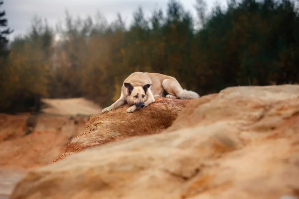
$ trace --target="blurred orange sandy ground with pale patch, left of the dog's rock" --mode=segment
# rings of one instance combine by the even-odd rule
[[[29,169],[51,164],[63,154],[70,140],[85,130],[89,115],[102,110],[82,98],[43,102],[47,107],[37,116],[34,131],[28,135],[28,113],[0,114],[0,199],[8,199]]]

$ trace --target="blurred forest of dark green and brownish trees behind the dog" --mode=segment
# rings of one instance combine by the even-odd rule
[[[27,110],[40,98],[110,105],[135,71],[174,76],[201,96],[230,86],[298,83],[297,3],[229,0],[208,12],[204,0],[194,0],[194,18],[170,0],[166,12],[150,17],[138,8],[127,28],[120,14],[108,23],[100,13],[74,18],[66,12],[55,28],[35,17],[30,32],[10,45],[0,12],[0,111]]]

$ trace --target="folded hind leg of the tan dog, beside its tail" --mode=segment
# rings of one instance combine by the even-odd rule
[[[165,79],[162,82],[163,89],[167,92],[166,98],[180,99],[183,95],[183,89],[180,84],[171,79]]]

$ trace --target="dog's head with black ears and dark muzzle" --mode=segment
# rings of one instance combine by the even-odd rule
[[[124,86],[128,89],[127,102],[131,105],[135,104],[138,108],[144,108],[145,101],[148,99],[147,91],[151,84],[134,87],[130,83],[124,83]]]

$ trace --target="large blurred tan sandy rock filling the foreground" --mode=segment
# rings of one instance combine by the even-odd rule
[[[298,177],[299,86],[234,87],[192,100],[165,133],[32,170],[10,199],[279,199],[299,197]]]

